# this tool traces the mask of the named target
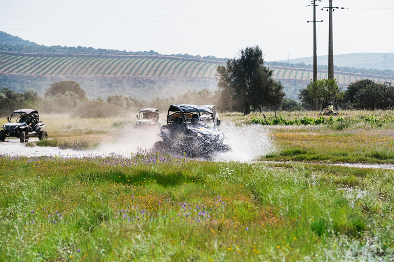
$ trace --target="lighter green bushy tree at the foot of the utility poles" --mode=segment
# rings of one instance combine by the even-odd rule
[[[322,79],[310,81],[305,89],[301,89],[298,98],[302,103],[313,108],[313,98],[318,97],[318,106],[324,109],[331,99],[335,99],[334,106],[338,110],[338,104],[343,101],[344,92],[338,86],[336,79]]]

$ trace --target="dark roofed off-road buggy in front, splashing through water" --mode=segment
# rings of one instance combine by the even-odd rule
[[[203,113],[210,114],[214,119],[212,111],[204,106],[171,105],[167,125],[163,125],[158,134],[163,141],[156,142],[153,150],[185,154],[187,157],[209,157],[218,152],[231,151],[231,147],[223,143],[225,136],[218,129],[220,120],[213,121],[209,126],[200,120]]]

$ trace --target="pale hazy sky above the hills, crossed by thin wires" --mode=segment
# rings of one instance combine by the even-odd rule
[[[0,31],[45,46],[154,50],[233,58],[259,45],[265,60],[313,55],[303,0],[0,0]],[[328,53],[328,12],[319,2],[318,55]],[[394,52],[394,0],[333,0],[334,54]]]

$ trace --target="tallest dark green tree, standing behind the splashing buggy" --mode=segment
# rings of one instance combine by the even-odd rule
[[[223,97],[229,97],[228,104],[247,115],[251,108],[282,103],[283,85],[272,79],[272,72],[264,67],[263,52],[256,46],[242,49],[239,58],[219,65],[215,76]]]

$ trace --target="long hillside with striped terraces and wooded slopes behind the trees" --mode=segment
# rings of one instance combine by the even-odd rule
[[[80,82],[90,98],[124,94],[149,99],[188,90],[214,90],[216,68],[225,61],[227,58],[170,56],[154,51],[45,47],[0,32],[0,89],[17,92],[35,90],[43,95],[53,81],[61,80]],[[293,99],[298,99],[299,90],[312,79],[311,64],[265,62],[265,65],[273,70],[273,78],[282,81],[286,95]],[[327,78],[327,71],[326,66],[320,65],[318,78]],[[334,73],[341,86],[361,79],[394,83],[391,70],[335,67]]]

